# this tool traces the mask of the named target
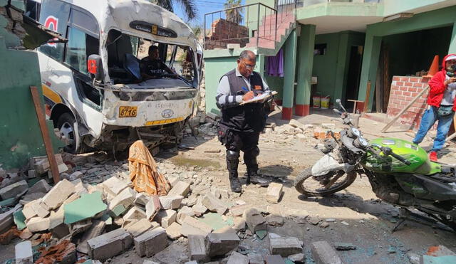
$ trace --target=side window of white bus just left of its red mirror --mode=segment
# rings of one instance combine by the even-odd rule
[[[88,75],[87,58],[98,54],[98,39],[89,36],[78,28],[68,27],[65,63],[80,73]]]

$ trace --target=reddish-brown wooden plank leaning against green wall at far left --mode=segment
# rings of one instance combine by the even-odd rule
[[[54,180],[54,184],[60,181],[60,174],[58,174],[58,166],[56,156],[53,153],[53,147],[51,143],[51,137],[49,137],[48,126],[46,125],[46,117],[44,117],[43,108],[41,107],[41,100],[38,95],[38,88],[36,86],[30,86],[31,97],[33,98],[33,105],[35,105],[36,117],[38,118],[38,124],[41,130],[41,136],[43,136],[44,148],[46,149],[46,155],[48,156],[49,165],[51,166],[51,173]]]

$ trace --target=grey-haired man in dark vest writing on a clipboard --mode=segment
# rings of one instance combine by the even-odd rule
[[[232,191],[240,192],[237,167],[239,152],[244,152],[247,166],[247,184],[267,186],[269,183],[258,175],[257,156],[259,155],[259,133],[266,123],[264,102],[243,101],[261,93],[269,93],[269,87],[259,73],[254,72],[257,57],[252,51],[242,51],[237,60],[237,68],[222,76],[215,97],[222,110],[222,120],[218,127],[220,142],[227,148],[227,169]]]

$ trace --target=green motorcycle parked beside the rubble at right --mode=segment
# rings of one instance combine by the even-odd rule
[[[431,162],[423,148],[402,139],[368,142],[353,127],[341,101],[336,102],[343,112],[334,111],[346,128],[340,139],[330,132],[325,155],[296,177],[296,190],[305,196],[328,196],[350,186],[357,174],[366,175],[379,199],[404,211],[418,209],[456,231],[455,165]]]

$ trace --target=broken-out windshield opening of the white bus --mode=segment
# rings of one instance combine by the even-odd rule
[[[160,79],[180,80],[178,83],[196,86],[197,71],[190,47],[158,43],[111,30],[106,49],[113,84],[149,85],[154,79]]]

